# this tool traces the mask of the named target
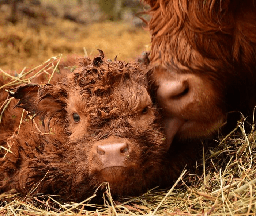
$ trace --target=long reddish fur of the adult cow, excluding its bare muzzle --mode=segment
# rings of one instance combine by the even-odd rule
[[[147,23],[151,65],[210,79],[223,113],[241,111],[252,116],[256,105],[255,1],[144,1],[151,6],[147,12],[151,16]],[[206,113],[202,110],[202,116]]]

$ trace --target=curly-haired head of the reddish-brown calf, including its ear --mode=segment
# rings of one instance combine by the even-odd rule
[[[114,194],[137,194],[159,181],[167,151],[148,93],[147,68],[105,61],[102,52],[81,62],[56,85],[13,89],[16,107],[47,122],[46,130],[57,131],[48,136],[60,140],[79,193],[86,193],[81,185],[96,188],[108,181]]]

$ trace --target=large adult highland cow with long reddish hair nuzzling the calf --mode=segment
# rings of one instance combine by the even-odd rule
[[[150,61],[169,143],[174,136],[210,137],[232,111],[252,116],[256,105],[256,2],[145,2],[151,6]]]

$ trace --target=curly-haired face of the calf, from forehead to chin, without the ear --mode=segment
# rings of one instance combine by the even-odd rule
[[[117,69],[122,67],[122,63],[114,64]],[[76,164],[77,181],[87,174],[90,184],[107,181],[115,194],[135,193],[131,185],[149,178],[167,151],[146,76],[134,71],[136,65],[125,67],[123,72],[109,67],[98,78],[98,73],[94,74],[94,80],[90,78],[73,91],[67,103],[68,145],[73,148],[71,161]],[[145,183],[142,188],[150,185]]]

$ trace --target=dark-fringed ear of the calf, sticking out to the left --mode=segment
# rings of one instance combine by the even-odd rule
[[[10,88],[15,92],[9,95],[19,99],[15,107],[20,107],[28,111],[28,115],[39,116],[44,124],[44,119],[48,119],[48,127],[52,118],[64,120],[67,106],[67,90],[64,84],[25,84],[17,88]]]

